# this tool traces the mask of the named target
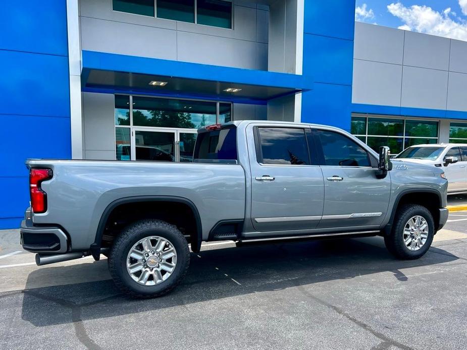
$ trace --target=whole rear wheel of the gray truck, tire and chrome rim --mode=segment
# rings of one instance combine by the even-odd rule
[[[188,245],[178,228],[154,219],[126,227],[109,256],[115,284],[138,298],[168,293],[183,278],[189,264]]]

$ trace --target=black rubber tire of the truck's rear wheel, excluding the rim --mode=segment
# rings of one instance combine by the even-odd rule
[[[166,280],[155,285],[143,285],[131,278],[126,264],[133,245],[150,236],[168,240],[177,253],[177,263]],[[120,290],[135,298],[153,298],[169,293],[180,283],[190,265],[190,251],[185,237],[176,226],[162,220],[145,219],[122,230],[111,248],[108,262],[110,274]]]

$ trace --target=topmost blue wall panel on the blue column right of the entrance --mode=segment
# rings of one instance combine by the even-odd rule
[[[304,32],[353,40],[355,0],[305,0]]]

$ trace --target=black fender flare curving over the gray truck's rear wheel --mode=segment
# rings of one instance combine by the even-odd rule
[[[194,218],[196,221],[196,240],[191,241],[191,250],[194,253],[198,253],[201,249],[201,242],[202,242],[202,225],[201,225],[201,217],[199,216],[198,209],[194,205],[192,201],[187,198],[183,197],[176,197],[176,196],[132,196],[132,197],[124,197],[119,198],[112,203],[110,203],[106,209],[102,212],[100,216],[99,224],[97,225],[96,235],[94,243],[91,244],[90,250],[93,258],[95,260],[99,260],[100,258],[100,242],[102,241],[102,235],[104,232],[104,228],[106,226],[106,222],[109,219],[110,214],[112,211],[122,204],[128,203],[137,203],[137,202],[176,202],[176,203],[183,203],[187,205],[194,214]]]

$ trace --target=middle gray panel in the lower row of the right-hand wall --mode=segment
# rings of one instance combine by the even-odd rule
[[[446,109],[448,72],[404,67],[401,106]]]

